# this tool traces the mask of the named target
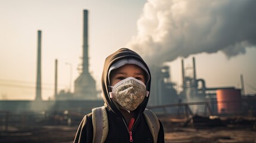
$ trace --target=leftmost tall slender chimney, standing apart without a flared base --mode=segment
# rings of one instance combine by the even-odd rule
[[[36,75],[36,101],[42,100],[41,91],[41,30],[38,30],[38,67]]]

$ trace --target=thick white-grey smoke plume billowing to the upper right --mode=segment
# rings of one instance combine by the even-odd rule
[[[127,47],[152,64],[201,52],[244,54],[256,45],[255,7],[255,0],[148,0]]]

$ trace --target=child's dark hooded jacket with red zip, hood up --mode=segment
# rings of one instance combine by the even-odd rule
[[[105,142],[129,142],[129,132],[127,129],[127,125],[124,122],[124,116],[121,111],[116,108],[113,103],[112,98],[109,97],[109,79],[108,72],[109,68],[116,63],[116,61],[134,58],[136,60],[141,61],[144,64],[146,69],[149,71],[147,64],[143,61],[143,59],[136,52],[131,51],[128,48],[121,48],[113,54],[109,55],[106,58],[104,63],[104,69],[101,77],[101,85],[103,90],[103,98],[105,102],[105,106],[107,107],[107,115],[109,122],[109,133],[107,134],[107,139]],[[149,71],[150,75],[150,71]],[[149,83],[146,85],[147,91],[150,91],[150,82],[151,77],[149,77]],[[150,133],[149,126],[147,125],[146,119],[143,115],[143,111],[146,108],[147,102],[149,100],[149,96],[144,98],[144,101],[138,106],[135,110],[136,118],[134,123],[134,128],[132,129],[132,139],[133,142],[137,143],[153,143],[153,136]],[[162,123],[160,123],[160,130],[158,133],[158,143],[164,142],[164,129]],[[92,127],[92,113],[85,115],[81,124],[79,125],[78,131],[75,136],[74,142],[92,142],[93,138],[93,127]]]

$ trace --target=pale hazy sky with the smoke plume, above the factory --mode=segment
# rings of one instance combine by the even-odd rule
[[[37,32],[42,30],[42,98],[69,90],[82,63],[83,10],[89,10],[90,72],[100,90],[104,59],[128,46],[148,63],[171,61],[172,82],[181,85],[196,58],[198,78],[207,87],[256,92],[256,22],[254,1],[14,1],[0,0],[0,99],[35,98]],[[150,58],[149,58],[150,57]],[[70,63],[70,64],[65,64]],[[70,66],[72,65],[72,66]],[[180,86],[178,86],[180,88]]]

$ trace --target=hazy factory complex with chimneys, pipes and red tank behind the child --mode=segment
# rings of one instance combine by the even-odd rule
[[[90,111],[93,107],[104,104],[101,98],[97,97],[100,91],[96,90],[96,82],[90,74],[88,58],[88,10],[83,11],[83,40],[82,40],[82,72],[75,80],[75,91],[57,92],[57,60],[55,61],[55,97],[54,101],[42,101],[41,97],[41,36],[42,31],[38,31],[38,57],[36,75],[36,97],[35,101],[0,101],[0,110],[73,110],[80,111],[87,108]],[[230,87],[207,88],[203,79],[196,76],[196,61],[193,58],[193,67],[185,68],[184,61],[181,60],[182,91],[177,92],[177,85],[171,82],[170,67],[156,67],[149,64],[152,73],[152,88],[150,91],[149,106],[161,106],[180,104],[186,102],[209,103],[214,114],[240,114],[246,109],[251,109],[252,114],[256,114],[255,103],[245,102],[247,99],[255,100],[255,95],[242,95],[243,89]],[[193,76],[186,75],[186,70],[192,69]],[[228,102],[229,101],[229,102]],[[231,103],[231,101],[233,101]],[[16,102],[16,103],[14,103]],[[33,102],[36,102],[33,104]],[[93,104],[91,104],[93,102]],[[89,106],[88,106],[89,105]],[[91,105],[91,106],[90,106]],[[22,107],[22,108],[20,108]],[[89,109],[88,109],[89,108]],[[170,113],[176,112],[177,108],[172,108]],[[198,111],[196,108],[193,111]]]

